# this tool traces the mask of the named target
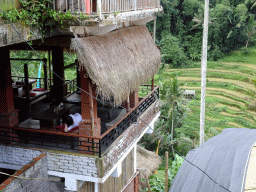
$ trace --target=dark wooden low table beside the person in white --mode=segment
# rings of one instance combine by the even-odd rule
[[[32,114],[31,118],[40,120],[40,129],[53,130],[56,126],[60,125],[60,118],[68,115],[75,106],[74,104],[64,103],[61,108],[53,106],[50,109]]]

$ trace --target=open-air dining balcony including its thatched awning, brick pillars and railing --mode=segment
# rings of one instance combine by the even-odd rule
[[[77,66],[77,78],[69,81],[55,75],[61,76],[66,68],[60,65],[60,52],[53,50],[53,79],[47,77],[46,69],[44,78],[29,77],[26,64],[25,77],[11,77],[13,58],[6,52],[9,66],[3,70],[6,83],[1,90],[10,97],[1,100],[7,106],[0,113],[1,143],[102,157],[118,143],[131,145],[151,130],[149,125],[153,128],[159,116],[159,87],[154,85],[154,75],[161,60],[146,26],[75,38],[71,49],[77,53],[78,63],[69,65]],[[13,95],[10,79],[16,84],[18,80],[24,82],[24,98]],[[41,82],[43,90],[39,89],[45,97],[31,95],[36,92],[35,84],[31,92],[29,80],[33,79]],[[151,85],[144,85],[146,82]],[[27,113],[23,113],[24,108]],[[70,112],[80,113],[83,120],[74,132],[62,132],[58,126]]]

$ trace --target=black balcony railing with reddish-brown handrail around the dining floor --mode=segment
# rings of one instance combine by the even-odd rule
[[[125,133],[131,134],[130,132],[132,132],[133,137],[127,138],[132,142],[146,128],[150,129],[148,127],[149,124],[159,115],[159,87],[143,85],[140,88],[139,94],[146,96],[139,97],[139,103],[129,110],[120,107],[110,109],[109,106],[105,107],[101,102],[98,102],[98,114],[100,111],[101,113],[105,112],[105,114],[99,115],[102,115],[102,127],[101,134],[98,137],[85,135],[83,132],[79,132],[79,129],[75,133],[63,133],[50,125],[42,128],[40,127],[39,120],[28,119],[20,123],[18,127],[0,127],[0,143],[102,157],[110,148],[114,147],[114,142],[122,139]],[[79,93],[74,93],[71,96],[79,98],[77,95]],[[45,103],[45,105],[47,104]],[[70,109],[79,106],[79,104],[69,105]],[[46,110],[49,111],[49,109]],[[32,113],[37,113],[37,110],[32,110]],[[61,110],[58,113],[61,113]],[[122,113],[122,110],[125,110],[125,113]],[[105,118],[104,116],[109,115],[107,111],[112,111],[112,113],[116,114],[113,114],[112,118]],[[153,128],[152,124],[151,126]],[[92,130],[87,131],[90,132]],[[127,145],[130,142],[127,141]]]

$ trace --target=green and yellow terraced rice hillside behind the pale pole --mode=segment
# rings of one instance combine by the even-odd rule
[[[199,130],[201,64],[193,68],[168,69],[165,77],[177,75],[182,87],[196,90],[196,99],[189,103],[183,128]],[[231,62],[208,62],[206,92],[206,136],[224,128],[256,128],[256,65]],[[199,134],[199,132],[198,132]]]

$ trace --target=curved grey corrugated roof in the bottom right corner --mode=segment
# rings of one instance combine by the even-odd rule
[[[256,130],[228,128],[191,150],[186,159],[232,192],[244,191],[245,177]],[[184,161],[169,192],[226,192],[204,173]]]

